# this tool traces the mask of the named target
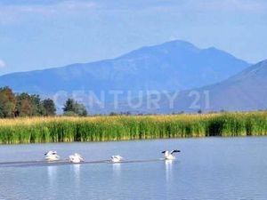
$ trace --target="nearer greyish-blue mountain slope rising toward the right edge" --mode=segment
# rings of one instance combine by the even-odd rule
[[[120,111],[135,113],[177,113],[181,111],[250,111],[267,108],[267,60],[259,62],[219,84],[177,92],[173,107],[166,94],[160,95],[158,108],[148,108],[148,99],[142,101],[142,107],[130,108],[125,102]],[[174,92],[168,93],[174,97]],[[155,98],[154,98],[155,99]],[[138,101],[138,100],[135,100]]]

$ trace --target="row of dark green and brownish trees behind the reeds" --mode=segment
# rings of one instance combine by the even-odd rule
[[[0,88],[0,118],[19,116],[55,116],[56,106],[51,99],[27,92],[15,93],[9,87]],[[87,116],[83,104],[68,99],[63,108],[65,116]]]

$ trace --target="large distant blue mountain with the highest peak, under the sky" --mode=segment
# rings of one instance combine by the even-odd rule
[[[220,82],[248,66],[246,61],[215,48],[199,49],[172,41],[112,60],[0,76],[0,86],[41,95],[60,91],[181,91]]]

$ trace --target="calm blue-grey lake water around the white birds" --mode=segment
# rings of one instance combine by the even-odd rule
[[[267,199],[267,138],[0,146],[0,162],[40,160],[50,149],[86,161],[154,159],[174,148],[182,153],[173,163],[0,167],[0,199]]]

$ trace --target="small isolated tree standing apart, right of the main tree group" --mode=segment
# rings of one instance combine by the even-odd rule
[[[64,116],[87,116],[87,110],[83,104],[68,99],[63,108]]]

